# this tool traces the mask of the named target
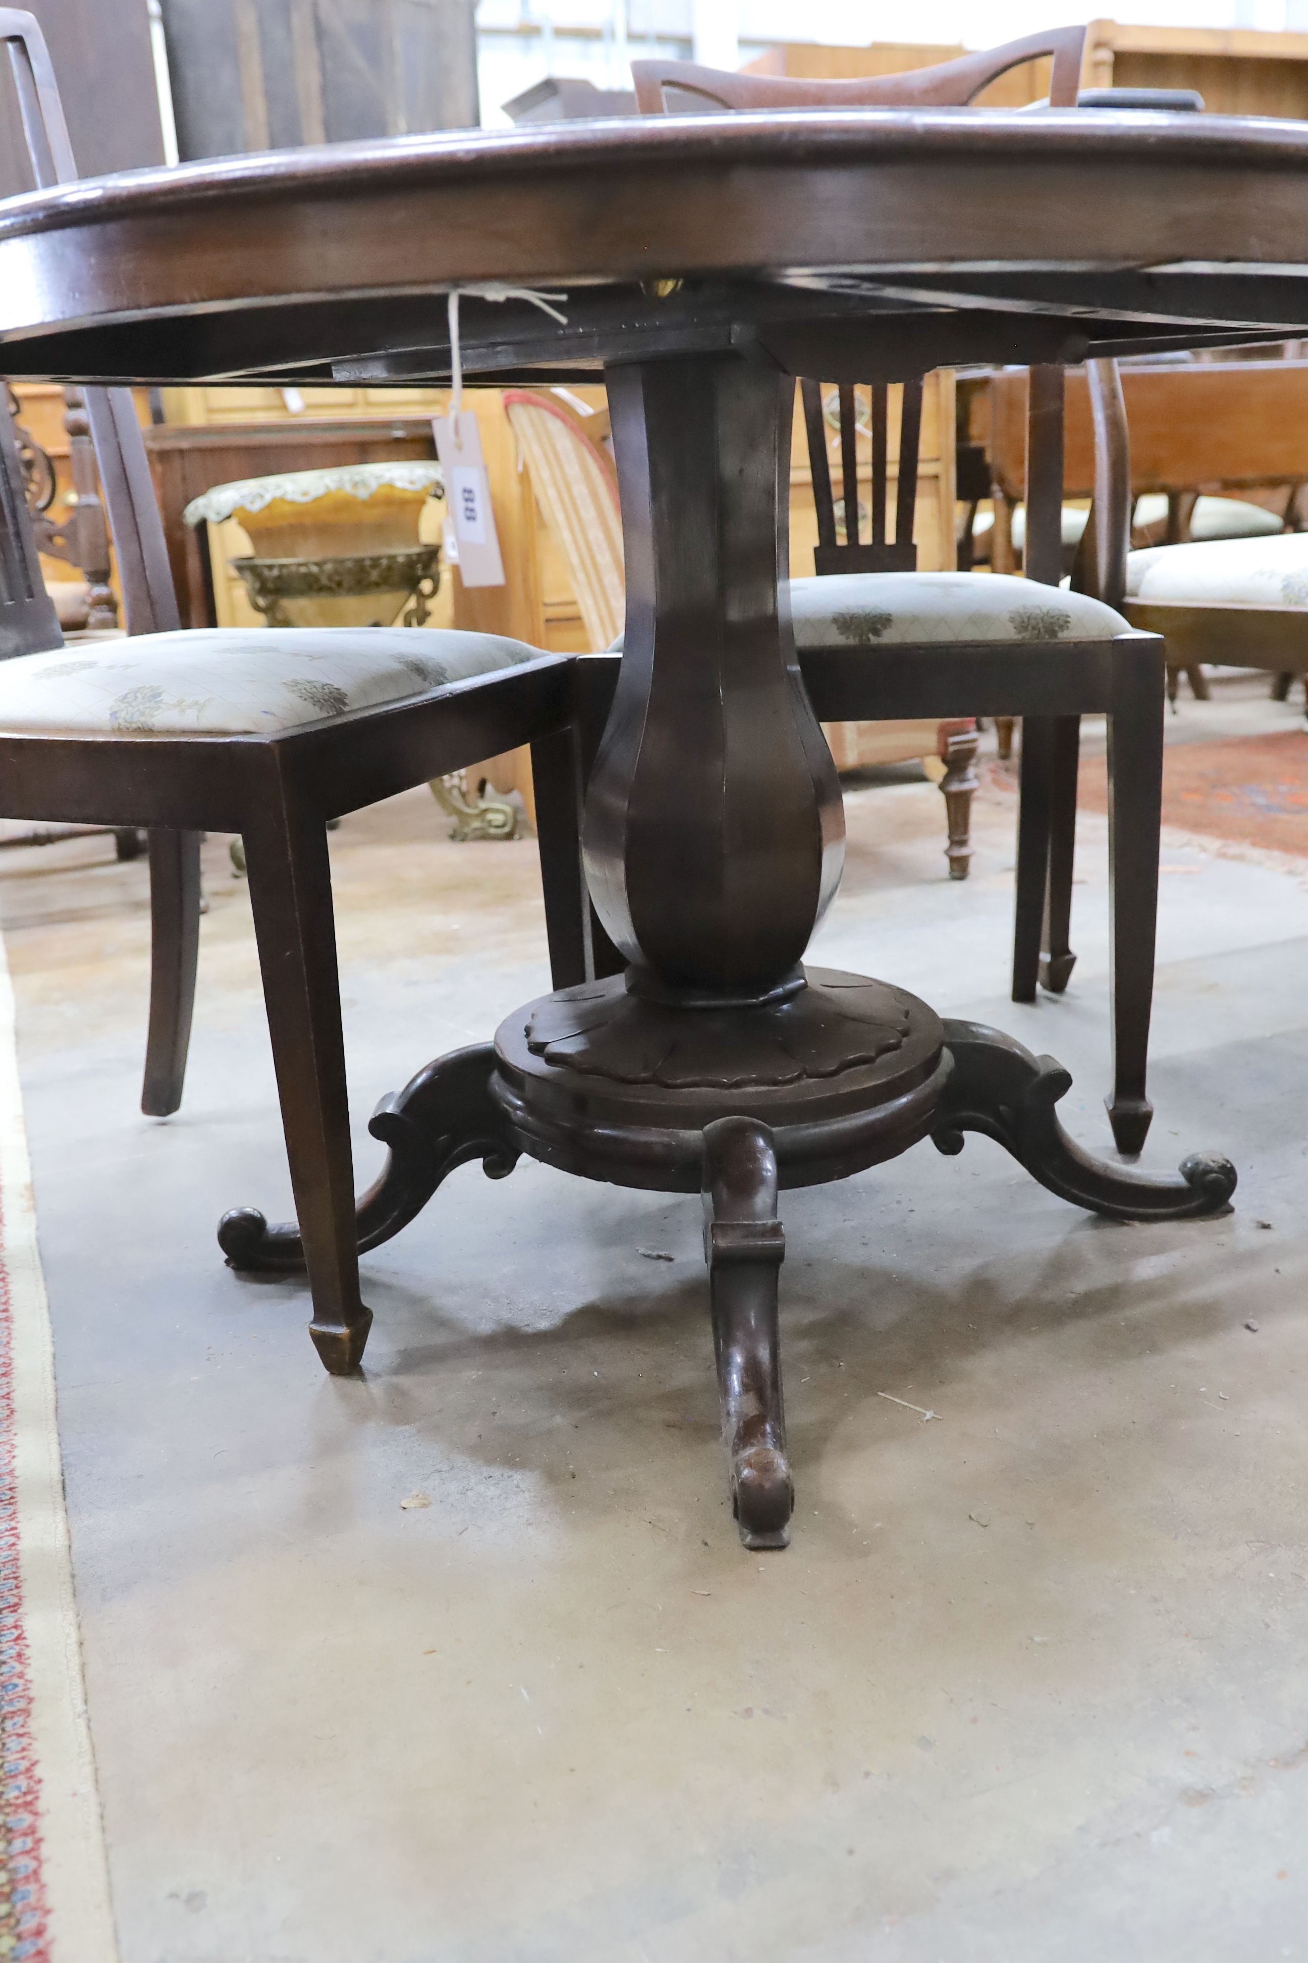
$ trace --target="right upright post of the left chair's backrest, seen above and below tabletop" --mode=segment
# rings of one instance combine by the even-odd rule
[[[14,77],[35,183],[39,188],[67,185],[76,179],[76,163],[45,35],[31,14],[0,8],[0,43]],[[84,402],[114,534],[127,632],[153,634],[180,626],[163,518],[131,391],[86,389]]]

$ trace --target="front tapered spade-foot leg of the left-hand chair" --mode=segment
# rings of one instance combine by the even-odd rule
[[[331,870],[324,821],[278,795],[245,832],[249,899],[273,1036],[290,1186],[326,1368],[359,1368],[373,1311],[359,1300],[355,1170]]]

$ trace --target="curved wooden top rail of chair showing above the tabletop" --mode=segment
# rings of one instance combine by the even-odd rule
[[[731,75],[694,61],[633,61],[635,104],[641,116],[677,110],[839,110],[839,108],[967,108],[982,88],[1024,61],[1053,57],[1049,106],[1077,106],[1084,27],[1051,27],[1022,41],[990,47],[933,69],[902,75],[859,75],[851,80],[796,75]],[[671,100],[669,100],[671,98]]]

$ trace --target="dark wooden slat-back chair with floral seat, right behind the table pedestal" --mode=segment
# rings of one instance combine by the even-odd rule
[[[935,69],[855,80],[728,75],[684,61],[635,61],[643,114],[675,108],[835,108],[933,104],[965,108],[988,82],[1026,61],[1051,59],[1049,106],[1075,108],[1084,27],[1028,35]],[[790,579],[794,640],[804,658],[822,650],[859,663],[869,718],[888,715],[1024,718],[1012,999],[1035,1001],[1037,983],[1067,987],[1081,716],[1108,713],[1112,870],[1114,1082],[1108,1117],[1124,1154],[1145,1142],[1153,1107],[1145,1093],[1157,866],[1163,797],[1163,654],[1139,640],[1106,603],[1122,589],[1130,518],[1130,453],[1112,363],[1096,371],[1096,522],[1082,542],[1084,591],[1063,577],[1063,369],[1033,367],[1028,383],[1026,577],[918,573],[914,526],[922,379],[906,377],[900,410],[900,475],[894,524],[886,508],[888,385],[873,381],[871,538],[857,516],[855,383],[837,383],[841,508],[830,493],[828,430],[818,377],[804,379],[808,453],[820,512],[814,577]],[[826,483],[826,495],[822,491]],[[1053,591],[1037,593],[1033,587]],[[979,650],[986,660],[977,660]],[[1108,663],[1104,663],[1108,656]],[[851,662],[843,677],[855,685]],[[814,705],[818,707],[818,705]],[[822,709],[818,709],[822,716]],[[826,718],[824,718],[826,720]]]

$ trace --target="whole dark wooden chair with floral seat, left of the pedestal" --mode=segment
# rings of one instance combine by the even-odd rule
[[[29,14],[6,8],[0,41],[37,175],[65,179],[73,165],[41,31]],[[539,756],[541,789],[569,791],[579,773],[573,662],[492,634],[428,628],[139,632],[141,607],[173,607],[163,530],[131,397],[90,395],[133,632],[76,650],[57,646],[18,479],[0,473],[0,654],[8,656],[0,660],[0,813],[147,826],[151,840],[167,840],[175,862],[186,864],[194,864],[198,832],[241,834],[300,1223],[294,1264],[308,1268],[318,1353],[343,1374],[357,1368],[373,1317],[359,1296],[326,826],[524,742]],[[0,444],[6,426],[0,416]],[[173,618],[165,612],[165,622]],[[53,652],[33,652],[43,646]],[[561,811],[549,840],[541,822],[557,985],[584,974],[567,797]],[[188,877],[175,881],[182,901],[194,893]],[[186,950],[188,934],[190,927],[175,944]],[[184,1019],[175,1027],[184,1033]],[[259,1215],[229,1217],[229,1260],[251,1264],[261,1235]]]

